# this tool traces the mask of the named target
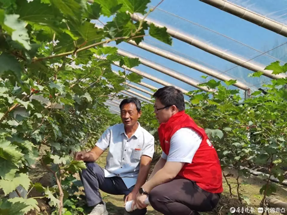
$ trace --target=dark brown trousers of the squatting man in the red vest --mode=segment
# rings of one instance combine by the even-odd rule
[[[219,202],[220,194],[209,193],[195,182],[174,179],[152,189],[150,205],[164,215],[195,215],[197,211],[212,211]]]

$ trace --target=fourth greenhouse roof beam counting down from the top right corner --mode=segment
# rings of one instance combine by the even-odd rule
[[[168,76],[171,76],[171,77],[173,77],[175,79],[178,79],[178,80],[180,80],[182,82],[185,82],[185,83],[187,83],[187,84],[189,84],[189,85],[191,85],[193,87],[196,87],[196,88],[198,88],[200,90],[203,90],[203,91],[206,91],[206,92],[212,91],[212,90],[208,89],[207,87],[198,86],[199,82],[195,82],[195,81],[193,81],[193,80],[191,80],[191,79],[189,79],[187,77],[181,76],[180,74],[175,73],[174,71],[172,71],[172,70],[170,70],[170,69],[168,69],[168,68],[166,68],[166,67],[164,67],[164,66],[162,66],[160,64],[157,64],[155,62],[143,59],[143,58],[141,58],[139,56],[133,55],[133,54],[128,53],[128,52],[126,52],[124,50],[121,50],[121,49],[118,49],[117,53],[119,55],[121,55],[121,56],[126,56],[126,57],[129,57],[129,58],[138,58],[140,60],[141,64],[143,64],[143,65],[145,65],[147,67],[150,67],[150,68],[152,68],[154,70],[157,70],[157,71],[159,71],[161,73],[164,73],[164,74],[166,74]]]

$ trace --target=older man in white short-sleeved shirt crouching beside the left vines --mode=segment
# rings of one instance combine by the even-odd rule
[[[89,215],[107,215],[99,189],[113,195],[125,195],[124,203],[133,200],[139,188],[146,182],[154,154],[154,137],[141,127],[141,102],[137,98],[124,99],[120,103],[122,122],[109,127],[96,146],[89,152],[78,152],[77,160],[86,162],[82,171],[88,206],[94,206]],[[95,161],[109,148],[105,169]],[[146,214],[146,208],[125,214]]]

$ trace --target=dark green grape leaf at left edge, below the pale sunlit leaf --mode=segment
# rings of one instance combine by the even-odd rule
[[[21,78],[21,65],[12,55],[2,53],[0,55],[0,65],[0,77],[4,72],[11,71],[18,79]]]

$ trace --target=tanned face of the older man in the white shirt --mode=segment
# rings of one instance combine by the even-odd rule
[[[122,106],[120,117],[125,127],[132,127],[141,116],[141,110],[138,112],[134,103],[128,103]]]

